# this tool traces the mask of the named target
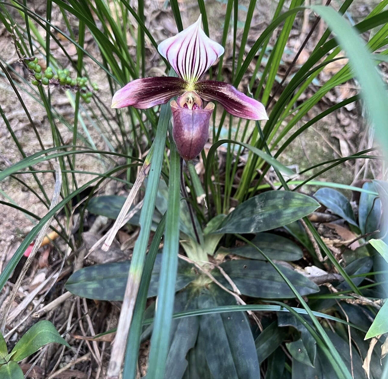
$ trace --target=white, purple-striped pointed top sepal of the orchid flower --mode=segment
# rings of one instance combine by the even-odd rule
[[[158,51],[181,78],[193,82],[217,61],[224,49],[202,30],[200,15],[197,22],[161,42]]]

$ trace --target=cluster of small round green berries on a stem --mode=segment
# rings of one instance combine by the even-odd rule
[[[73,90],[80,91],[82,99],[90,104],[91,97],[93,96],[93,92],[90,91],[87,87],[88,79],[85,77],[78,77],[76,79],[72,79],[70,76],[70,71],[66,68],[63,70],[57,70],[57,73],[54,75],[51,67],[47,67],[44,73],[42,73],[42,67],[38,64],[37,57],[31,57],[26,59],[27,67],[34,72],[34,79],[31,81],[33,85],[39,85],[42,83],[43,85],[49,85],[50,83],[54,85],[66,86],[67,88],[72,88]],[[50,80],[53,81],[50,82]],[[91,86],[94,91],[98,91],[97,83],[91,83]]]

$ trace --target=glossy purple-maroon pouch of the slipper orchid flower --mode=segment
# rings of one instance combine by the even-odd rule
[[[209,137],[209,121],[214,104],[209,103],[204,109],[188,109],[171,101],[173,119],[172,136],[179,155],[189,161],[203,149]]]

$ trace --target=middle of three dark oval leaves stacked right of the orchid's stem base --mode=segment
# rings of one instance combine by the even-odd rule
[[[297,261],[303,257],[301,248],[288,238],[277,234],[259,233],[251,241],[255,246],[262,250],[271,259],[282,261]],[[245,258],[265,260],[255,247],[244,245],[233,247],[232,249],[223,249],[229,254],[236,254]]]

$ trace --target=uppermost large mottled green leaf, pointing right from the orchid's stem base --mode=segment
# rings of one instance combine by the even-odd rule
[[[291,191],[267,191],[242,202],[214,233],[258,233],[281,227],[319,207],[312,198]]]

